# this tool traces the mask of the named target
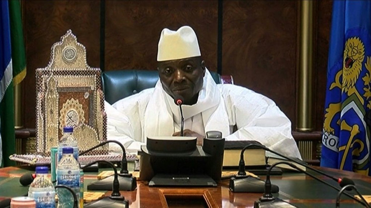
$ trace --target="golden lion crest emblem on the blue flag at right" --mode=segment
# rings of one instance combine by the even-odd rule
[[[353,115],[358,118],[358,121],[361,121],[366,114],[364,108],[371,109],[371,56],[366,57],[364,63],[366,70],[362,71],[364,58],[365,47],[361,39],[359,37],[347,39],[344,46],[342,69],[336,73],[334,81],[329,87],[329,90],[339,88],[341,89],[342,96],[346,95],[342,98],[341,102],[331,102],[325,109],[322,138],[323,145],[333,151],[343,152],[340,161],[340,169],[343,169],[348,152],[351,152],[353,156],[360,156],[360,152],[363,151],[366,145],[358,137],[360,137],[361,128],[368,129],[368,127],[362,122],[354,123],[352,120],[343,118],[345,114],[348,114],[348,116],[352,114],[349,112],[358,112]],[[360,78],[362,78],[362,80],[360,80]],[[366,107],[364,103],[367,103]],[[341,116],[339,115],[340,112]],[[347,132],[347,138],[349,139],[346,144],[339,144],[339,137],[335,133],[335,129]],[[368,140],[368,133],[365,137],[366,140]],[[363,157],[363,159],[356,162],[357,165],[362,166],[366,157],[368,157],[368,154]]]

